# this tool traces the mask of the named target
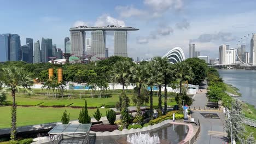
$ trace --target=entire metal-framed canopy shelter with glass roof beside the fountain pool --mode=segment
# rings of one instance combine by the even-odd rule
[[[50,136],[51,143],[59,143],[63,140],[63,135],[73,135],[75,139],[75,134],[82,135],[83,143],[87,143],[89,140],[89,132],[91,128],[90,124],[59,124],[51,129],[48,134]]]

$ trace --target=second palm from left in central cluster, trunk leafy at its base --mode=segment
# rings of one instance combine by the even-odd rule
[[[145,65],[136,64],[131,68],[132,71],[132,81],[133,85],[138,88],[137,95],[137,115],[136,115],[136,123],[142,122],[142,114],[141,114],[141,88],[147,88],[148,85],[148,77],[147,77],[147,69]]]

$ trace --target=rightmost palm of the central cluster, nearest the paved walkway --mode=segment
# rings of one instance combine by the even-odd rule
[[[174,73],[176,79],[179,81],[179,94],[182,93],[182,82],[193,79],[193,71],[191,67],[185,62],[179,62],[174,64]]]

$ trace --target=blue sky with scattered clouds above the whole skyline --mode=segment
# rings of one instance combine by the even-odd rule
[[[256,1],[142,0],[142,1],[33,1],[0,0],[0,33],[13,33],[34,41],[52,38],[58,48],[70,37],[73,26],[124,25],[139,28],[128,35],[129,56],[163,56],[181,47],[188,56],[189,43],[196,51],[218,57],[218,46],[236,47],[244,35],[255,33]],[[90,34],[88,34],[90,37]],[[249,39],[247,44],[249,52]],[[113,34],[107,35],[113,55]]]

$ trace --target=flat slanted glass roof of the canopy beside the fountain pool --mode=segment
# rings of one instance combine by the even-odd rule
[[[51,129],[48,134],[87,134],[91,128],[90,124],[60,124]]]

